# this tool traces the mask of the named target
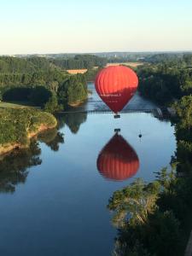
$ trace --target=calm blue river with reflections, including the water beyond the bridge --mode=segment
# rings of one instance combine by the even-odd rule
[[[89,89],[78,110],[105,108],[93,84]],[[127,108],[141,106],[155,107],[136,95]],[[154,180],[176,150],[174,127],[151,113],[68,113],[59,120],[59,131],[0,163],[3,256],[111,255],[116,230],[108,199],[137,177]]]

